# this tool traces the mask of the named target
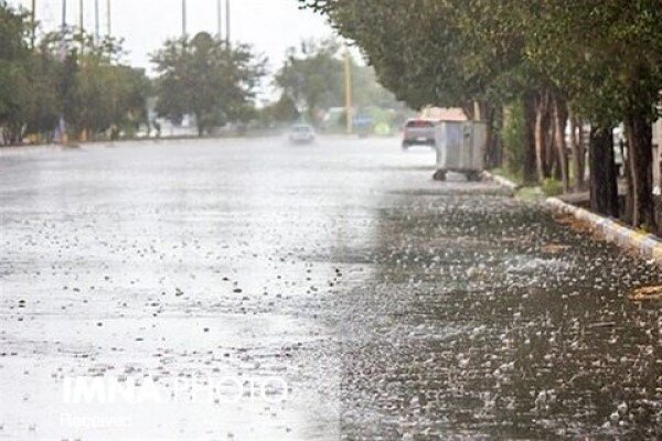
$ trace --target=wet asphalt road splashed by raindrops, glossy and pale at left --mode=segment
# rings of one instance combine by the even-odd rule
[[[0,439],[662,438],[661,272],[434,159],[0,153]]]

